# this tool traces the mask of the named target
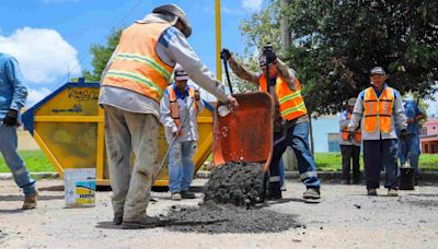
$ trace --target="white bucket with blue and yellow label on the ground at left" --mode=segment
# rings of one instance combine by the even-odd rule
[[[66,208],[95,205],[95,168],[66,168],[64,170]]]

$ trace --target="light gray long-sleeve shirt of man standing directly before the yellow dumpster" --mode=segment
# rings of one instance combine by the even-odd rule
[[[181,95],[181,94],[180,94]],[[196,103],[193,103],[193,98],[187,96],[188,93],[185,93],[185,97],[177,95],[176,102],[178,104],[180,109],[180,121],[183,122],[184,117],[187,115],[188,107],[191,107],[188,117],[185,119],[183,123],[181,123],[181,134],[176,138],[177,142],[185,141],[197,141],[199,139],[198,134],[198,124],[197,124],[197,114],[195,111],[195,104],[198,109],[198,114],[204,109],[204,102],[199,98]],[[193,104],[192,104],[193,103]],[[176,129],[175,120],[171,116],[171,103],[169,98],[168,90],[164,91],[163,97],[160,102],[160,121],[163,123],[165,129],[165,139],[168,143],[172,142],[173,131]]]

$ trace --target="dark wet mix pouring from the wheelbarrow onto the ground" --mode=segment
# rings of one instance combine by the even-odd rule
[[[228,163],[217,167],[198,208],[173,205],[165,227],[187,233],[279,233],[302,226],[297,216],[254,206],[263,194],[264,164]],[[252,209],[249,209],[252,208]]]

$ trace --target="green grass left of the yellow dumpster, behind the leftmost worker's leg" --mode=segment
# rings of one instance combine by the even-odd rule
[[[55,167],[42,151],[19,151],[19,154],[31,173],[56,171]],[[2,156],[0,156],[0,173],[10,173]]]

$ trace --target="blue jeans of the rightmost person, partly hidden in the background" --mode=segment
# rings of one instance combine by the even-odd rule
[[[418,158],[420,154],[418,134],[410,134],[406,141],[400,139],[400,159],[402,162],[402,166],[404,163],[406,163],[408,157],[411,167],[415,169],[415,174],[418,176]]]

